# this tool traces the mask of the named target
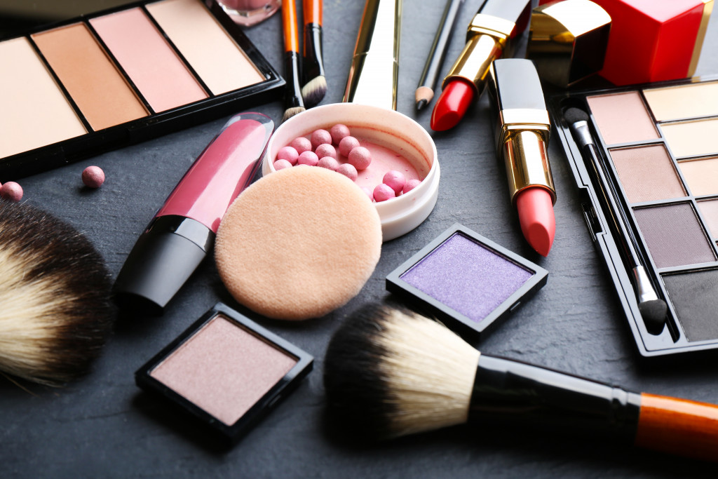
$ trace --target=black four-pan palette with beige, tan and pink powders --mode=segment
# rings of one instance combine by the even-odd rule
[[[2,182],[269,101],[284,85],[201,0],[142,1],[0,40],[0,78]]]

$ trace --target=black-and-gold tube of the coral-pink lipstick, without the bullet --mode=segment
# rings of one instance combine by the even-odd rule
[[[542,187],[556,203],[547,147],[551,120],[531,60],[496,60],[489,70],[496,152],[503,157],[511,202],[528,187]]]

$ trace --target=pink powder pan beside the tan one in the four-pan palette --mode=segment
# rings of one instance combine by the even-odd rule
[[[90,19],[90,24],[154,111],[207,98],[139,7]]]

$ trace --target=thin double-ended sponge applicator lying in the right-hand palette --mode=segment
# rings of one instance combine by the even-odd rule
[[[599,189],[609,208],[609,214],[606,215],[606,218],[610,220],[610,226],[614,230],[613,238],[623,256],[631,281],[633,281],[640,316],[643,318],[645,327],[649,332],[659,334],[663,330],[663,325],[666,324],[668,306],[663,299],[658,298],[658,294],[653,289],[651,278],[648,276],[648,272],[645,271],[645,266],[643,266],[646,261],[640,254],[638,240],[635,238],[633,230],[628,227],[625,210],[617,204],[616,198],[618,194],[615,185],[607,178],[609,169],[598,153],[589,131],[589,116],[579,108],[568,108],[564,112],[564,118],[566,118],[571,127],[584,161],[591,165],[594,174],[599,180]]]

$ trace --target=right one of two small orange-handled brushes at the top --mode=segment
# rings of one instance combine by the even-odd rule
[[[307,108],[316,106],[327,93],[322,55],[322,0],[304,0],[304,86],[302,97]]]

